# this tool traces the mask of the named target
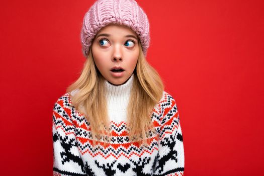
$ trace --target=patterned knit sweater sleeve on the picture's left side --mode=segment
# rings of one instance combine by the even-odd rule
[[[53,108],[53,176],[86,175],[66,100],[59,98]]]

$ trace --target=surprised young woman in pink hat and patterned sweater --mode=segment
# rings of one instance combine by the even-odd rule
[[[177,105],[145,59],[149,40],[134,0],[85,14],[84,67],[53,110],[53,175],[183,175]]]

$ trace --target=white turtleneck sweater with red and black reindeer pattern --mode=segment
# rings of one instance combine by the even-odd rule
[[[126,109],[134,74],[127,82],[113,85],[105,80],[113,138],[106,146],[92,148],[89,122],[74,107],[69,94],[53,109],[53,175],[183,175],[184,145],[175,100],[166,92],[154,107],[156,136],[148,147],[129,142]],[[77,91],[77,90],[76,90]]]

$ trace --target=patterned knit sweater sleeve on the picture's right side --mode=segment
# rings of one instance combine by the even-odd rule
[[[183,175],[184,145],[180,117],[175,100],[166,95],[160,118],[158,154],[153,175]]]

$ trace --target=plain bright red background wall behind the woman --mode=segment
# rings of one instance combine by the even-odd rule
[[[93,3],[1,3],[1,175],[52,174],[52,109],[82,68]],[[263,174],[263,1],[138,4],[147,60],[177,101],[185,175]]]

